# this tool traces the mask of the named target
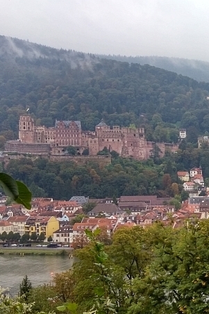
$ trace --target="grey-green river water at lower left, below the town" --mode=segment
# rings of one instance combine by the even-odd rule
[[[0,286],[10,288],[10,295],[17,295],[25,275],[32,286],[49,283],[53,274],[69,270],[74,258],[66,256],[0,256]]]

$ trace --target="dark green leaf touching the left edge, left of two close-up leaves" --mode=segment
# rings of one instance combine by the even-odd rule
[[[3,188],[3,192],[13,201],[16,201],[19,197],[17,182],[8,174],[0,173],[0,185]]]

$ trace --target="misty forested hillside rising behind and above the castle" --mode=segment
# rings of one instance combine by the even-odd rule
[[[79,119],[83,129],[94,130],[103,118],[144,126],[153,141],[177,142],[182,127],[195,143],[209,131],[209,83],[3,36],[0,47],[0,135],[6,140],[17,138],[28,106],[36,124]]]

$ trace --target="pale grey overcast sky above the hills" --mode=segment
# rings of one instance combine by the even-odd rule
[[[0,0],[0,35],[50,47],[209,61],[208,0]]]

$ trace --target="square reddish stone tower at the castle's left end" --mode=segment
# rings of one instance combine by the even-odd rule
[[[30,115],[21,115],[19,117],[19,140],[22,143],[33,143],[34,122]]]

